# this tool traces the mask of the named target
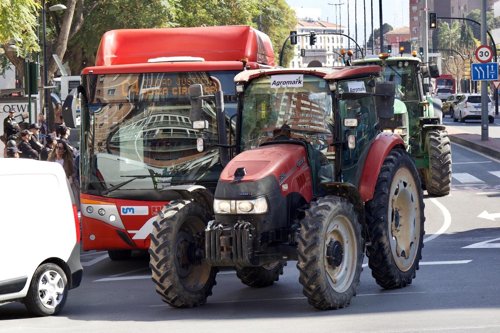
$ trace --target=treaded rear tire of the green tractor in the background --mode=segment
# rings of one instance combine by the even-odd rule
[[[426,137],[429,168],[425,188],[429,195],[444,196],[451,188],[451,144],[446,130],[429,130]]]

